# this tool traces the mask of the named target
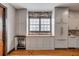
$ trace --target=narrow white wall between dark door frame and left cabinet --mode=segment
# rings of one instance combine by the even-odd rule
[[[4,3],[3,5],[7,7],[6,31],[7,31],[7,52],[9,52],[14,48],[15,8],[7,3]]]

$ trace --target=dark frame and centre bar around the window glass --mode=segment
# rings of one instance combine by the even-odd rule
[[[52,16],[52,15],[51,15]],[[51,16],[50,17],[28,17],[28,33],[30,32],[36,32],[36,33],[42,33],[42,32],[45,32],[45,33],[50,33],[51,34],[51,31],[52,31],[52,22],[51,22]],[[39,31],[30,31],[30,18],[38,18],[39,19]],[[41,19],[42,18],[49,18],[50,19],[50,31],[41,31]]]

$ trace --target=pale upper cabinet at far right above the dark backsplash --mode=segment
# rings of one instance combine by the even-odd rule
[[[69,30],[79,30],[79,11],[69,12]]]

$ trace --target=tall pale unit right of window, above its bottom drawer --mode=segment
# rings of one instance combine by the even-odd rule
[[[55,8],[55,37],[56,39],[67,39],[68,36],[68,8]]]

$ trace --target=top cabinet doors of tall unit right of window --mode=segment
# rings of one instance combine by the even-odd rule
[[[68,23],[68,8],[57,7],[55,8],[55,22],[56,23]]]

